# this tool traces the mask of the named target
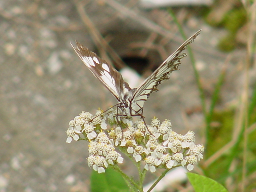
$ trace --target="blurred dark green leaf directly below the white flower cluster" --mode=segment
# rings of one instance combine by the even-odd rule
[[[92,171],[91,191],[92,192],[128,192],[122,175],[112,169],[106,169],[105,173]]]

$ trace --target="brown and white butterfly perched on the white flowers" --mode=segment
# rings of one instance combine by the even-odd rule
[[[172,71],[179,70],[181,59],[187,56],[182,53],[188,44],[200,34],[201,29],[193,36],[189,37],[180,47],[172,53],[148,78],[138,87],[130,88],[129,84],[124,81],[121,73],[109,65],[105,60],[98,57],[94,52],[88,50],[79,42],[75,47],[70,44],[76,51],[77,55],[84,62],[92,74],[116,97],[118,100],[118,113],[122,116],[142,116],[143,105],[148,100],[152,92],[157,92],[158,85],[169,79]]]

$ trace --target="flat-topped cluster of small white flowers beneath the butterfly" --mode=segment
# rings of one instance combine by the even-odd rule
[[[123,163],[116,147],[133,156],[135,162],[144,161],[144,168],[150,172],[177,166],[186,166],[191,171],[203,158],[204,146],[195,145],[194,132],[178,134],[172,131],[170,120],[160,124],[154,118],[146,125],[143,120],[133,123],[131,117],[123,116],[120,122],[116,119],[113,112],[103,115],[98,110],[95,116],[83,111],[69,122],[66,142],[72,139],[89,141],[88,165],[99,173],[105,172],[108,165]],[[106,134],[107,124],[111,131]]]

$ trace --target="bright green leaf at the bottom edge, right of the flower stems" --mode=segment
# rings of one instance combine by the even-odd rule
[[[228,192],[220,183],[208,177],[195,173],[187,173],[195,192]]]

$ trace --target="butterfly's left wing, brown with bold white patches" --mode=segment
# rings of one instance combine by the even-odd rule
[[[98,57],[94,52],[89,51],[87,47],[84,47],[79,42],[76,42],[77,47],[73,46],[71,42],[70,44],[92,74],[104,84],[118,101],[122,100],[124,87],[130,88],[122,75],[105,60]]]

